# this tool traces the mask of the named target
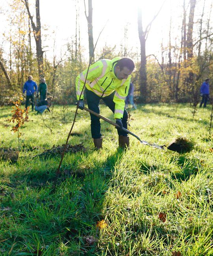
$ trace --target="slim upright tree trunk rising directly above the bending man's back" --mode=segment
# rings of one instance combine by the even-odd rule
[[[86,4],[84,0],[85,15],[86,15]],[[93,27],[92,27],[92,0],[88,0],[88,15],[86,15],[87,24],[88,24],[88,36],[89,36],[89,53],[92,62],[94,62],[94,43],[93,43]]]

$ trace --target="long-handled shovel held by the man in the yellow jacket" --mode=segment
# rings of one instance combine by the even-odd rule
[[[114,123],[110,119],[108,119],[108,118],[106,118],[104,116],[101,116],[100,114],[94,112],[93,110],[91,110],[89,108],[86,108],[86,107],[84,107],[84,110],[90,112],[91,114],[93,114],[94,116],[97,116],[98,118],[103,119],[107,123],[110,123],[110,124],[114,125],[115,127],[120,128],[120,126],[117,123]],[[141,140],[137,135],[135,135],[134,133],[132,133],[131,131],[129,131],[129,130],[125,129],[125,128],[122,128],[122,131],[125,131],[126,133],[129,133],[129,134],[133,135],[135,138],[137,138],[140,141],[140,143],[142,143],[144,145],[148,145],[148,146],[151,146],[153,148],[164,149],[164,146],[160,146],[160,145],[157,145],[157,144],[149,143],[149,142],[147,142],[145,140]]]

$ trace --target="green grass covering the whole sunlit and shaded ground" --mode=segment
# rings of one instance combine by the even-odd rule
[[[194,148],[179,154],[130,135],[123,151],[116,129],[101,120],[103,149],[95,151],[89,113],[78,110],[69,144],[86,151],[65,153],[56,184],[60,155],[34,156],[65,143],[76,107],[54,106],[43,118],[29,112],[19,160],[0,161],[0,255],[213,255],[210,107],[194,119],[187,104],[137,107],[128,129],[142,140],[168,145],[185,136]],[[18,148],[5,121],[11,110],[0,108],[0,147]],[[113,120],[104,105],[101,114]],[[100,220],[107,227],[97,228]]]

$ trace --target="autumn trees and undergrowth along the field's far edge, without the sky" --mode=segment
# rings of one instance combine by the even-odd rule
[[[151,54],[146,55],[146,40],[152,22],[161,11],[151,17],[148,25],[142,26],[142,10],[138,9],[138,37],[140,54],[129,50],[121,44],[118,47],[105,45],[99,52],[94,51],[92,0],[84,0],[85,16],[88,22],[88,47],[92,61],[115,56],[129,56],[136,62],[136,71],[132,82],[135,84],[135,96],[138,103],[153,102],[199,102],[200,84],[207,77],[213,81],[213,28],[212,5],[208,6],[209,15],[205,13],[205,3],[199,19],[195,20],[196,0],[182,0],[182,23],[179,33],[172,43],[172,17],[168,34],[168,45],[161,46],[161,59]],[[39,0],[29,6],[28,0],[13,0],[8,13],[10,27],[6,41],[9,50],[0,48],[0,105],[11,102],[22,92],[22,86],[28,75],[32,75],[37,83],[46,78],[49,92],[57,103],[68,104],[75,101],[75,78],[87,67],[83,46],[80,43],[79,9],[76,1],[76,28],[73,40],[67,43],[66,54],[59,57],[52,52],[52,60],[46,58],[43,49]],[[31,10],[31,9],[32,10]],[[33,8],[36,17],[33,17]],[[32,13],[31,13],[32,11]],[[169,14],[168,14],[169,15]],[[124,25],[125,26],[125,25]],[[14,28],[16,28],[14,30]],[[127,30],[124,37],[127,38]],[[179,39],[181,38],[181,39]],[[34,43],[32,43],[34,40]],[[36,45],[36,47],[32,47]],[[4,57],[3,57],[4,56]],[[7,57],[5,57],[7,56]],[[213,94],[210,83],[211,94]]]

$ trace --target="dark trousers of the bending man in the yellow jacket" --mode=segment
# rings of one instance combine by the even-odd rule
[[[85,92],[86,92],[88,108],[100,114],[99,102],[100,102],[100,99],[102,99],[106,103],[106,105],[112,110],[112,112],[113,113],[115,112],[115,103],[113,101],[114,93],[110,94],[107,97],[101,98],[88,89],[85,89]],[[91,119],[92,138],[94,139],[101,138],[102,135],[101,135],[100,118],[98,118],[97,116],[94,116],[93,114],[90,114],[90,119]],[[123,123],[123,127],[126,129],[127,129],[127,119],[128,119],[128,114],[127,114],[127,111],[124,109],[122,123]],[[125,133],[124,131],[118,130],[118,135],[127,136],[127,133]]]

